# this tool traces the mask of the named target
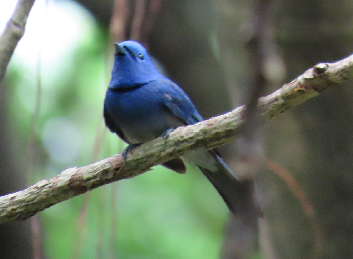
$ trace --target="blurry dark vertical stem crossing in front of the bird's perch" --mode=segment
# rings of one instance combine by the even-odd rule
[[[264,89],[272,83],[272,78],[267,73],[266,68],[268,60],[271,60],[277,50],[273,37],[271,2],[272,0],[253,1],[250,17],[251,37],[245,46],[250,60],[249,63],[252,66],[250,69],[251,77],[245,95],[247,104],[243,113],[245,125],[241,131],[242,136],[238,142],[240,147],[233,168],[243,180],[241,187],[243,191],[240,192],[240,197],[246,199],[246,204],[255,206],[255,208],[258,203],[253,191],[253,177],[263,160],[262,132],[257,129],[259,124],[256,119],[258,113],[257,100]],[[234,31],[234,26],[231,30]],[[228,71],[228,73],[234,72]],[[257,246],[258,231],[258,221],[249,211],[232,216],[226,226],[226,238],[222,249],[223,259],[251,258]]]

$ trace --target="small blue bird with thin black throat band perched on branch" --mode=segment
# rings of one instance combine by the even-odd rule
[[[186,93],[160,74],[146,49],[138,42],[115,44],[114,65],[103,116],[110,131],[129,144],[123,156],[138,145],[159,136],[168,137],[175,128],[202,121]],[[182,156],[198,166],[234,214],[242,202],[241,185],[215,149],[199,148]],[[178,173],[186,168],[181,158],[163,164]]]

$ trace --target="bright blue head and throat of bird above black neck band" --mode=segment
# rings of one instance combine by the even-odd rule
[[[158,73],[146,49],[136,41],[114,43],[114,65],[110,89],[129,88],[158,79]]]

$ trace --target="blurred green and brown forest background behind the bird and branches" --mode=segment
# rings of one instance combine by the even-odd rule
[[[0,30],[15,4],[0,0]],[[249,47],[257,18],[264,56]],[[126,38],[143,42],[208,118],[247,102],[259,63],[266,94],[353,53],[353,2],[37,0],[0,85],[0,194],[123,150],[102,104],[112,43]],[[0,257],[352,258],[352,98],[350,81],[256,133],[262,166],[240,193],[255,190],[263,219],[231,217],[197,169],[157,166],[1,225]],[[221,149],[235,171],[242,148]]]

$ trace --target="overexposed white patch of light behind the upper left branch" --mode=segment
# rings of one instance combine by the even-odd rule
[[[0,0],[0,30],[14,10],[16,1]],[[96,23],[91,14],[74,1],[37,0],[28,17],[25,34],[19,41],[11,63],[24,66],[22,76],[35,81],[41,57],[42,81],[59,80],[62,70],[70,69],[73,50],[93,40]],[[55,84],[43,84],[43,87]]]

